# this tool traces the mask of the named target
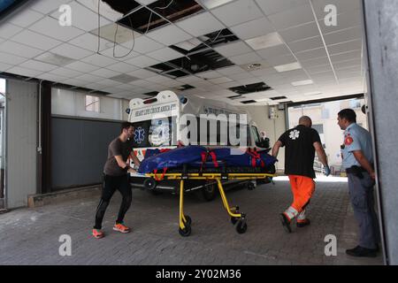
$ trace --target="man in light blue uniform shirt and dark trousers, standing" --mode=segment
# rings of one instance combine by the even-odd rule
[[[347,249],[346,253],[374,257],[379,249],[379,222],[374,210],[371,134],[356,124],[356,112],[351,109],[339,112],[338,125],[344,130],[342,165],[347,172],[349,196],[359,225],[359,245]]]

